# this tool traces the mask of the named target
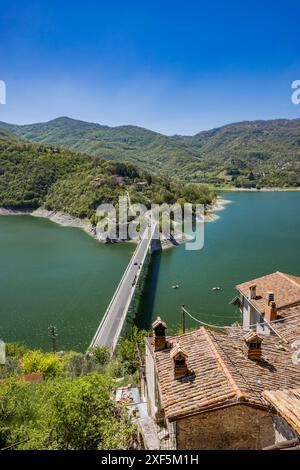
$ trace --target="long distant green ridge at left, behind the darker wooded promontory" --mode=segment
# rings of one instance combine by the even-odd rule
[[[0,123],[0,127],[28,140],[109,160],[131,161],[148,171],[171,172],[173,177],[188,177],[199,164],[180,142],[135,126],[108,127],[62,117],[25,126]]]

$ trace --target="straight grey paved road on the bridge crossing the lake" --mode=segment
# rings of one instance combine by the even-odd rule
[[[147,227],[132,255],[115,294],[105,312],[90,347],[109,346],[114,350],[121,334],[137,281],[156,227]]]

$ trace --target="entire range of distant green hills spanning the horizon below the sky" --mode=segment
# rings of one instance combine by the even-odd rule
[[[108,127],[67,117],[0,127],[28,140],[130,161],[186,181],[238,187],[300,185],[299,119],[241,122],[172,137],[136,126]]]

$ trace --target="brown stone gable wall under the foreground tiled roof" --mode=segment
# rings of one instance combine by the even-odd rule
[[[178,449],[262,449],[275,442],[267,411],[235,405],[177,422]]]

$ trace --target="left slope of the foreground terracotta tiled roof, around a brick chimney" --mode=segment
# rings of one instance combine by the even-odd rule
[[[210,347],[204,329],[169,337],[169,348],[154,353],[165,414],[168,418],[191,414],[199,408],[235,402],[236,390]],[[189,375],[175,379],[170,350],[179,343],[187,354]]]

